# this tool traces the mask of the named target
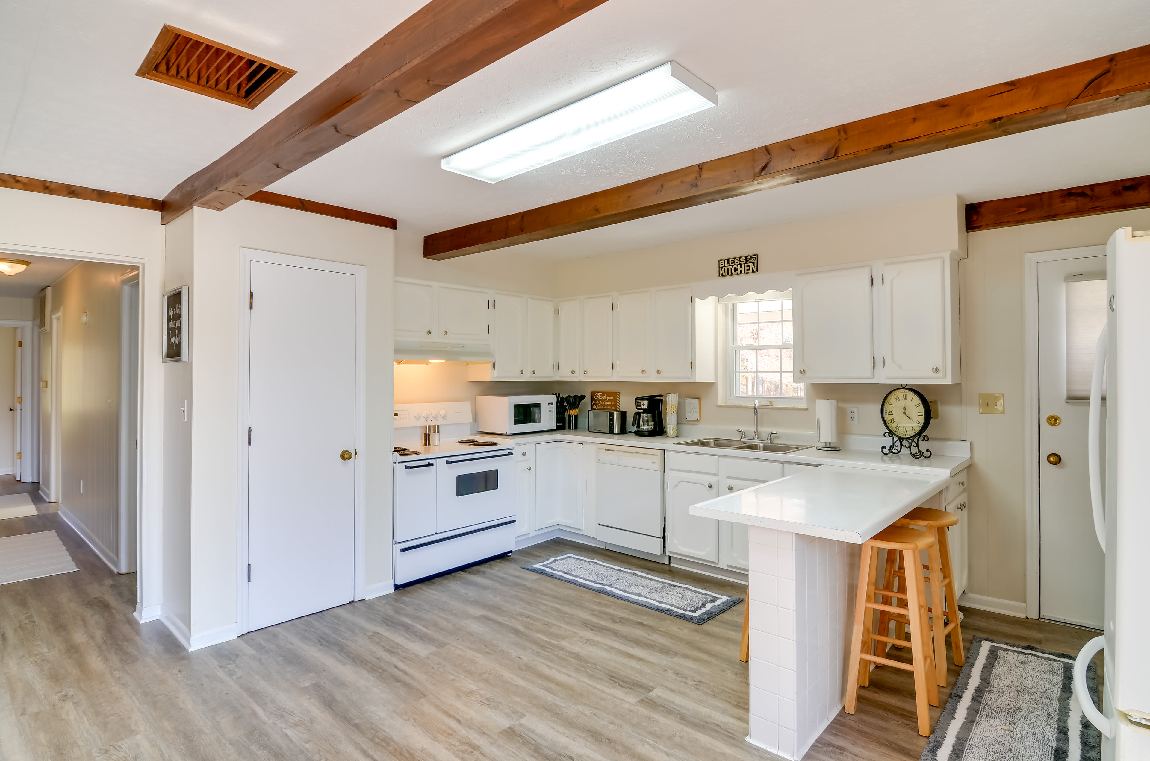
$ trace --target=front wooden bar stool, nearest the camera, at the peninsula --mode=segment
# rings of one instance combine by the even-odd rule
[[[850,670],[846,675],[846,707],[853,714],[858,706],[859,686],[871,682],[871,662],[882,666],[894,666],[914,674],[914,704],[919,716],[919,735],[930,736],[930,709],[938,705],[938,685],[931,678],[934,670],[934,649],[930,647],[930,629],[927,624],[926,582],[922,575],[913,575],[906,579],[906,591],[877,586],[879,551],[885,549],[888,558],[894,553],[903,556],[906,568],[921,563],[919,553],[935,546],[935,539],[928,531],[918,531],[905,526],[888,526],[871,539],[862,543],[862,556],[859,560],[859,586],[854,604],[854,628],[851,632]],[[876,600],[877,595],[877,600]],[[906,607],[885,605],[884,598],[900,599]],[[898,618],[905,618],[911,630],[911,639],[897,640],[885,632],[874,633],[872,628],[876,612],[888,613]],[[911,663],[892,661],[885,655],[876,655],[875,640],[911,648]]]

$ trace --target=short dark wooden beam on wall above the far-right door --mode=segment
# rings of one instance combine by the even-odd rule
[[[1150,207],[1150,175],[966,205],[966,231]]]

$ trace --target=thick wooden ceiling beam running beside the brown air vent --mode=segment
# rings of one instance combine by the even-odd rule
[[[161,221],[228,208],[604,2],[431,0],[177,185]]]

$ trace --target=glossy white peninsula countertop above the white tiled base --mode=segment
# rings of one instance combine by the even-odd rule
[[[720,521],[862,544],[946,483],[935,474],[825,466],[689,509]]]

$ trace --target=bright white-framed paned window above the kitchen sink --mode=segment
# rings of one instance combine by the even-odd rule
[[[727,402],[806,407],[806,384],[795,382],[790,292],[749,294],[724,305]]]

